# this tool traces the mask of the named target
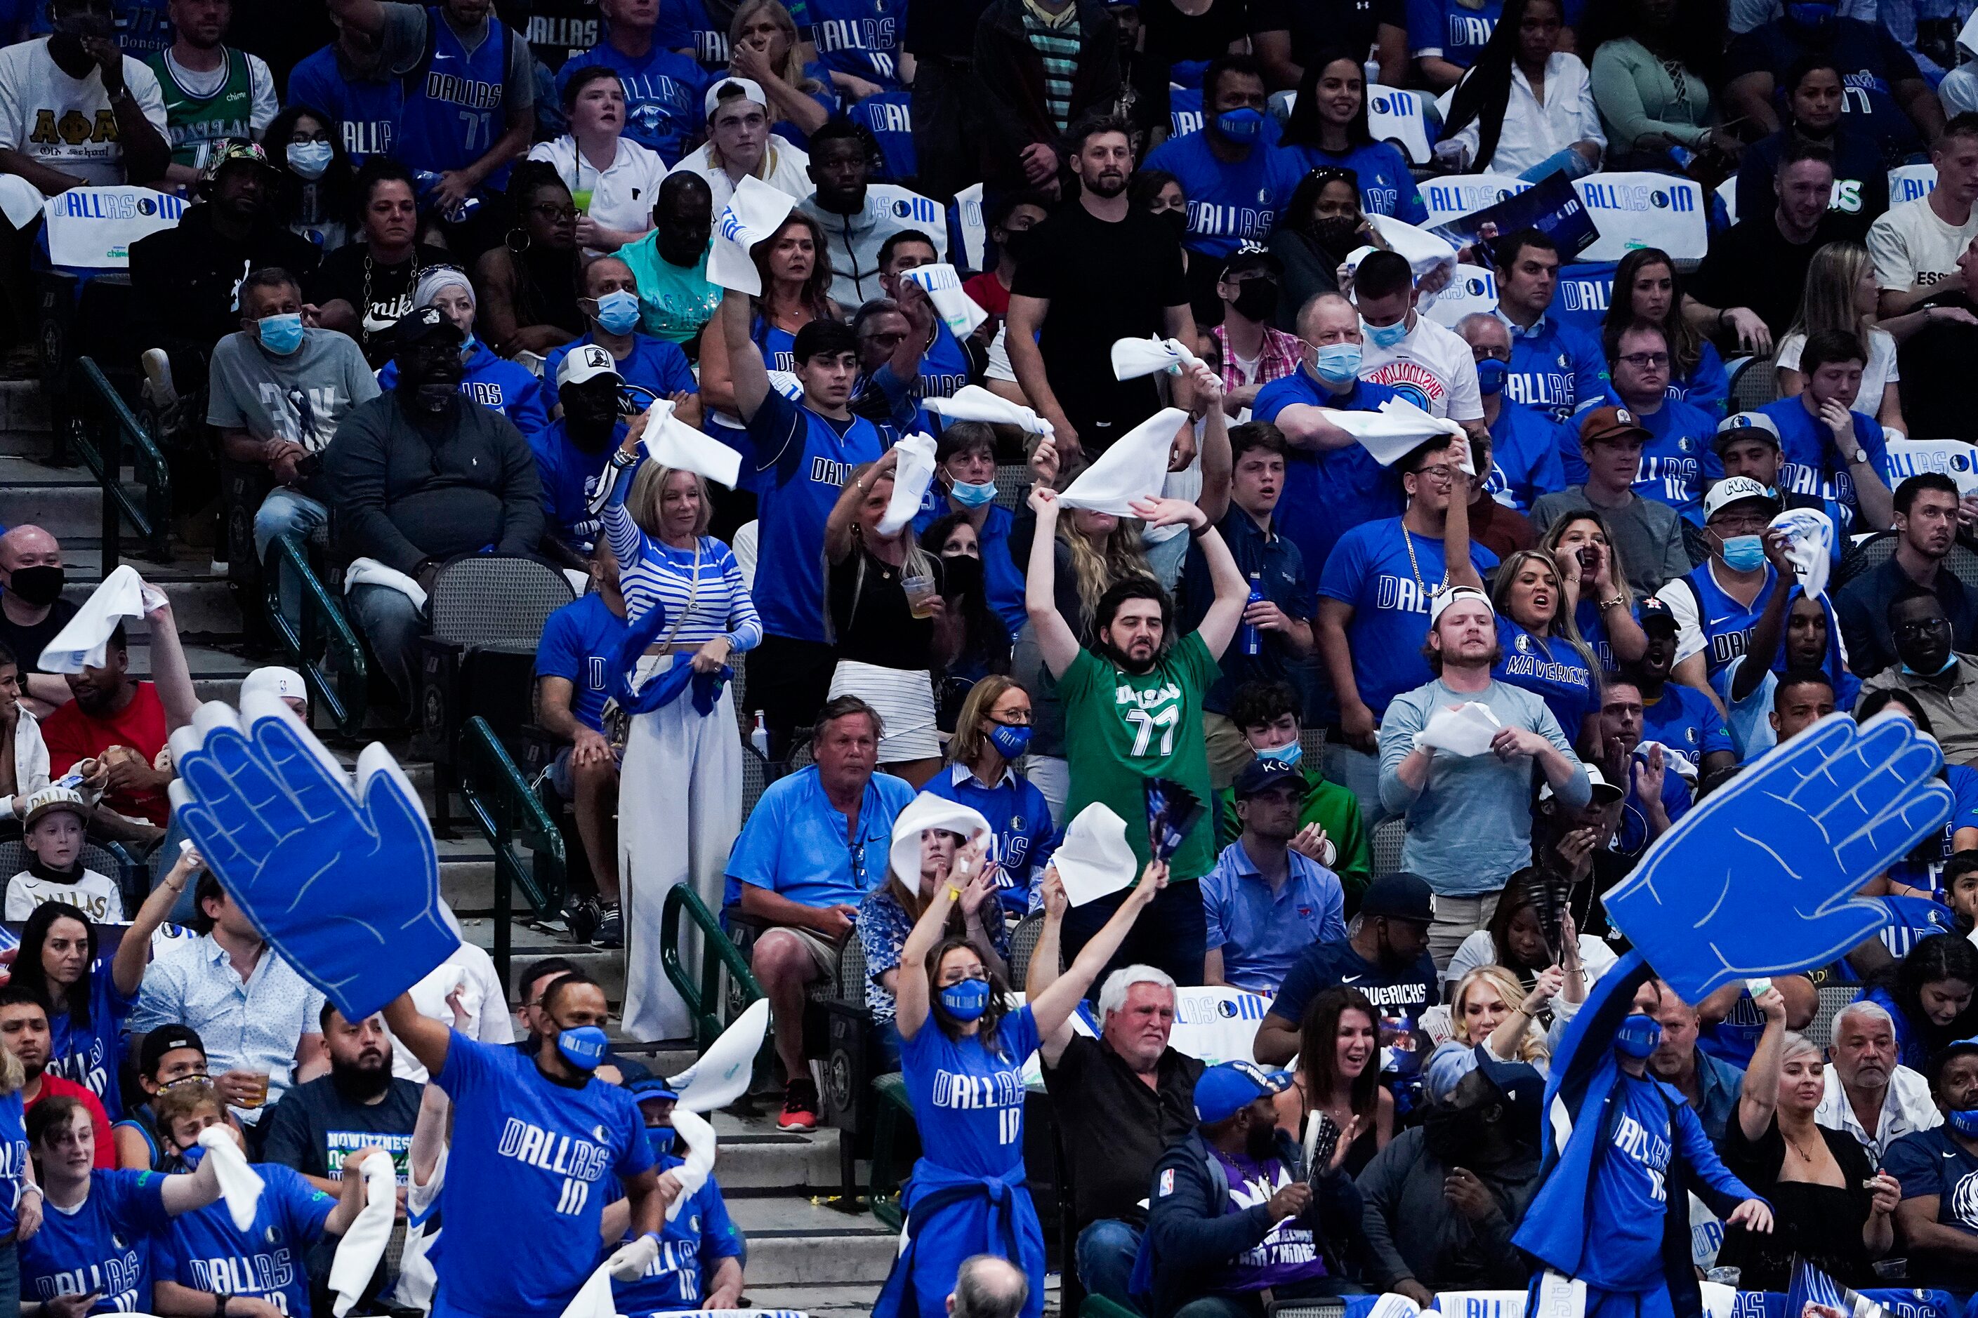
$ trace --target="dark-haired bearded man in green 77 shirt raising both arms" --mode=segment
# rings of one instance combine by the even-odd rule
[[[1070,761],[1064,818],[1078,818],[1094,802],[1106,804],[1125,820],[1133,856],[1145,865],[1147,779],[1181,783],[1203,802],[1203,812],[1169,860],[1167,887],[1133,925],[1114,964],[1153,964],[1175,976],[1177,984],[1201,984],[1207,927],[1193,879],[1216,864],[1203,694],[1222,674],[1222,650],[1242,622],[1250,585],[1199,506],[1179,498],[1135,500],[1133,516],[1149,528],[1189,528],[1209,561],[1214,603],[1201,626],[1169,644],[1175,603],[1153,577],[1125,577],[1108,587],[1092,611],[1094,648],[1088,650],[1056,609],[1056,490],[1036,486],[1031,508],[1036,510],[1036,537],[1031,541],[1025,607],[1036,630],[1036,648],[1064,703],[1064,747]],[[1066,915],[1066,956],[1078,954],[1124,895],[1088,901]]]

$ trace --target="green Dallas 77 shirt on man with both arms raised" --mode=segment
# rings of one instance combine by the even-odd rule
[[[1094,800],[1125,820],[1133,856],[1147,864],[1147,779],[1173,779],[1203,802],[1195,828],[1169,862],[1169,877],[1199,879],[1216,864],[1214,798],[1203,749],[1203,694],[1222,676],[1195,632],[1161,656],[1151,672],[1131,674],[1080,650],[1058,678],[1064,701],[1064,755],[1072,790],[1064,818]]]

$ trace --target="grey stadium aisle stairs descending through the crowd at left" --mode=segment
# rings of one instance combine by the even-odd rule
[[[36,524],[51,532],[67,565],[67,597],[81,603],[103,579],[101,490],[83,466],[49,466],[49,423],[42,385],[0,379],[0,526]],[[146,581],[172,599],[186,660],[200,700],[231,701],[257,660],[243,654],[243,622],[225,573],[216,571],[210,549],[174,539],[172,559],[156,563],[136,555],[136,541],[123,541],[129,561]],[[131,628],[131,668],[150,672],[150,636]],[[404,737],[388,741],[411,783],[433,810],[433,765],[413,759]],[[354,749],[340,749],[346,765]],[[461,917],[469,941],[494,945],[494,856],[453,804],[455,836],[439,840],[441,893]],[[566,956],[593,974],[611,998],[623,1000],[623,952],[574,945],[568,935],[528,919],[512,925],[516,970],[538,956]],[[510,994],[512,998],[512,994]],[[692,1063],[684,1047],[619,1041],[621,1051],[657,1075]],[[839,1132],[819,1128],[789,1134],[775,1126],[775,1105],[760,1101],[756,1114],[718,1112],[722,1152],[716,1176],[736,1221],[748,1233],[748,1300],[762,1308],[811,1314],[866,1314],[892,1263],[896,1237],[868,1211],[843,1211],[839,1190]]]

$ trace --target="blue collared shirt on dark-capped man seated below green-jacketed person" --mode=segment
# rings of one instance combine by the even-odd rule
[[[1278,891],[1264,881],[1242,840],[1222,848],[1203,875],[1205,947],[1222,952],[1222,980],[1254,994],[1278,984],[1313,943],[1347,937],[1345,889],[1339,875],[1298,852],[1286,852],[1292,873]]]

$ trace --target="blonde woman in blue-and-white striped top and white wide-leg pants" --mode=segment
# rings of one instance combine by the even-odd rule
[[[708,486],[694,472],[641,462],[631,425],[611,454],[591,502],[601,508],[611,567],[625,617],[639,630],[655,609],[645,654],[627,680],[637,694],[659,674],[690,664],[696,678],[718,674],[732,656],[762,640],[756,603],[742,585],[734,551],[708,535]],[[637,472],[633,470],[637,466]],[[674,883],[692,883],[720,911],[728,850],[742,832],[742,725],[734,688],[722,686],[706,711],[690,688],[669,703],[635,713],[619,771],[619,873],[625,935],[625,1033],[678,1039],[692,1030],[686,1004],[661,970],[661,913]],[[601,923],[599,937],[607,925]]]

